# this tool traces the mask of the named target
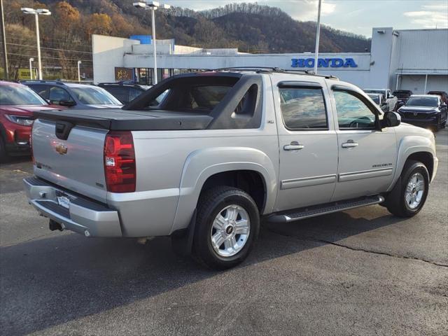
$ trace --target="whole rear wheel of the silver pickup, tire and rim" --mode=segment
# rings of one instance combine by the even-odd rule
[[[213,269],[235,267],[251,251],[260,214],[243,190],[219,186],[204,192],[197,207],[193,253]]]

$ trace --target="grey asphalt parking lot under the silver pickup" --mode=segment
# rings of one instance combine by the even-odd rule
[[[448,335],[448,129],[421,213],[380,206],[262,228],[211,272],[162,237],[50,232],[27,204],[31,163],[0,167],[1,335]]]

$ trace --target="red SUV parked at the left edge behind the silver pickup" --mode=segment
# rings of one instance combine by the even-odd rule
[[[0,162],[29,155],[33,112],[55,109],[26,85],[0,80]]]

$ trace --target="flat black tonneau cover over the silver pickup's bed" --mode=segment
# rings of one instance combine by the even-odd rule
[[[122,109],[89,109],[64,111],[37,111],[36,119],[66,121],[114,131],[143,130],[204,130],[213,118],[209,111],[130,111]]]

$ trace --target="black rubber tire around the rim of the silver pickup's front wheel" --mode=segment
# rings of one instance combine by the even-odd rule
[[[424,190],[421,196],[421,201],[417,207],[412,208],[406,201],[405,193],[409,179],[414,176],[414,174],[420,173],[424,180]],[[426,202],[426,197],[428,197],[429,190],[429,174],[428,169],[425,165],[419,161],[408,160],[403,167],[400,178],[393,187],[391,193],[386,196],[385,205],[388,211],[398,217],[413,217],[419,213],[421,208]]]

